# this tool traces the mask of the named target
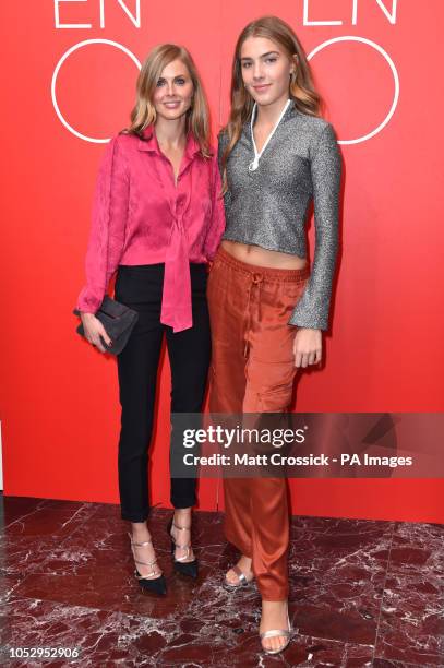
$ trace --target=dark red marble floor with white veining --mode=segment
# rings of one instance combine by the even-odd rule
[[[444,666],[444,525],[293,517],[297,633],[273,657],[260,648],[257,589],[220,586],[236,559],[223,515],[194,515],[196,582],[172,574],[169,516],[155,509],[151,521],[168,580],[156,598],[132,576],[118,506],[0,497],[0,665]],[[77,647],[81,657],[9,658],[19,647]]]

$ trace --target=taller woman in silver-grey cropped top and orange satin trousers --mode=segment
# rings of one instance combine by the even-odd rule
[[[266,16],[235,52],[231,111],[219,135],[226,231],[208,282],[212,413],[285,411],[298,368],[322,359],[338,248],[341,159],[293,31]],[[305,247],[314,203],[315,248]],[[229,589],[256,580],[267,653],[290,639],[289,513],[283,478],[226,478],[225,530],[241,552]]]

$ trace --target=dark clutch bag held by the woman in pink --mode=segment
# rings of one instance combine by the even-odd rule
[[[77,309],[74,309],[73,313],[74,315],[80,315]],[[101,338],[101,343],[104,344],[107,353],[119,355],[130,338],[130,334],[137,322],[139,313],[133,309],[128,308],[123,303],[111,299],[108,297],[108,295],[105,295],[104,301],[95,315],[101,322],[106,333],[112,341],[112,344],[107,346]],[[81,336],[85,336],[82,323],[76,329],[76,332]]]

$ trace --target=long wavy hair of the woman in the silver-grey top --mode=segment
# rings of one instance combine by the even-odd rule
[[[290,79],[289,97],[292,98],[299,111],[311,116],[321,115],[322,99],[314,87],[309,61],[293,29],[277,16],[262,16],[249,23],[239,35],[232,60],[231,111],[228,123],[223,129],[228,136],[228,142],[220,160],[224,192],[227,191],[228,157],[240,138],[242,126],[251,117],[254,106],[253,98],[243,85],[240,60],[242,45],[249,37],[266,37],[280,46],[288,58],[297,60],[297,70]]]

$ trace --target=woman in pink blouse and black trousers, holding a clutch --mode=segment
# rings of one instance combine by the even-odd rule
[[[107,146],[98,175],[81,311],[86,338],[110,339],[95,317],[117,271],[116,299],[139,313],[118,355],[121,515],[131,522],[135,576],[165,594],[151,534],[147,449],[164,333],[171,367],[171,411],[199,413],[211,355],[206,263],[224,230],[217,155],[208,143],[205,95],[187,49],[160,45],[144,62],[131,126]],[[175,570],[197,576],[191,547],[195,479],[171,479],[168,526]]]

